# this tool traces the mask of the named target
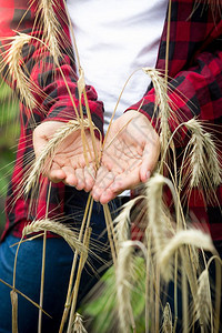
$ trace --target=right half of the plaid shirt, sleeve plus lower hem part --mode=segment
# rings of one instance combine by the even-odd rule
[[[198,2],[198,6],[196,6]],[[218,4],[219,6],[219,4]],[[195,10],[194,10],[195,8]],[[169,120],[171,132],[181,123],[198,118],[213,134],[222,162],[222,20],[220,9],[211,8],[205,1],[172,0],[169,46],[169,98],[172,115]],[[167,49],[165,20],[157,69],[164,72]],[[143,99],[128,110],[139,110],[148,117],[159,131],[158,114],[154,114],[155,92],[150,88]],[[141,107],[142,104],[142,107]],[[141,107],[141,108],[140,108]],[[127,110],[127,111],[128,111]],[[129,111],[130,112],[130,111]],[[158,112],[157,112],[158,113]],[[188,143],[188,131],[180,125],[174,143],[179,157]],[[169,198],[170,193],[165,194]],[[205,201],[205,193],[195,188],[188,195],[183,190],[184,206],[189,221],[210,230],[216,244],[222,240],[222,185],[215,190],[215,200]]]

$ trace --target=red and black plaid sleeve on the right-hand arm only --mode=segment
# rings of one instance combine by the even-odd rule
[[[169,48],[169,100],[172,114],[171,132],[191,118],[212,123],[221,122],[222,104],[222,21],[201,2],[193,11],[193,0],[172,0]],[[191,16],[191,13],[193,14]],[[165,68],[167,21],[160,44],[157,68]],[[159,128],[154,113],[154,89],[128,110],[145,114]],[[158,112],[157,112],[158,113]],[[176,145],[186,144],[183,128],[175,133]]]

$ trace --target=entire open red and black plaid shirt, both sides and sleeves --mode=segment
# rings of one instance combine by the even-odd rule
[[[6,3],[7,2],[7,3]],[[0,0],[0,38],[1,57],[8,49],[6,38],[16,34],[14,30],[41,36],[38,24],[33,29],[38,1],[28,0]],[[196,4],[199,3],[199,4]],[[68,85],[73,94],[74,102],[79,104],[77,89],[77,73],[71,51],[69,29],[62,0],[57,1],[58,18],[61,24],[61,67],[65,74]],[[85,4],[87,10],[87,4]],[[165,68],[167,49],[165,20],[157,68]],[[65,41],[65,42],[64,42]],[[33,83],[33,95],[37,108],[30,111],[24,103],[20,104],[21,134],[18,147],[14,171],[9,185],[7,200],[7,224],[3,233],[13,229],[14,235],[21,236],[21,231],[27,221],[40,219],[46,215],[49,181],[41,179],[39,195],[33,200],[30,210],[30,198],[22,193],[22,180],[28,168],[30,157],[33,157],[32,130],[38,123],[48,120],[67,121],[74,118],[74,110],[70,97],[61,78],[61,72],[54,69],[50,54],[36,40],[32,47],[24,46],[22,50],[23,63],[28,69],[30,82]],[[6,62],[6,58],[4,59]],[[7,72],[7,63],[3,72]],[[174,129],[183,121],[193,117],[208,121],[208,130],[220,140],[222,123],[222,21],[220,10],[212,10],[205,1],[172,0],[172,14],[170,22],[169,48],[169,78],[174,117],[169,120],[170,129]],[[97,99],[97,92],[92,87],[87,87],[89,107],[95,125],[102,132],[103,104]],[[129,109],[138,110],[141,101]],[[44,112],[42,112],[42,109]],[[154,90],[149,88],[140,112],[150,120],[154,111]],[[215,131],[213,130],[215,128]],[[188,143],[186,134],[178,131],[174,143],[180,154]],[[180,168],[180,165],[179,165]],[[49,216],[57,218],[63,214],[63,199],[65,186],[63,183],[52,184],[49,203]],[[192,191],[189,200],[191,216],[195,216],[201,223],[206,223],[213,240],[222,240],[222,186],[216,190],[216,203],[208,204],[200,189]],[[18,199],[16,199],[18,198]]]

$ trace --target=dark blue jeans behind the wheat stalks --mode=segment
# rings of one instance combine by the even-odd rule
[[[82,221],[88,194],[68,188],[65,198],[67,222],[79,228]],[[121,200],[110,203],[112,214],[117,213]],[[105,232],[103,209],[100,203],[93,203],[91,218],[91,243],[97,256],[90,254],[79,290],[78,304],[89,290],[97,283],[99,276],[108,269],[110,251]],[[13,262],[18,239],[8,235],[0,246],[0,279],[12,285]],[[16,287],[39,303],[41,279],[42,239],[22,243],[17,263]],[[46,281],[43,309],[52,319],[42,315],[42,333],[59,331],[63,306],[67,296],[73,252],[63,239],[47,240]],[[107,262],[107,264],[105,264]],[[19,295],[18,324],[21,333],[36,333],[38,327],[38,309]],[[10,289],[0,282],[0,333],[11,333]]]

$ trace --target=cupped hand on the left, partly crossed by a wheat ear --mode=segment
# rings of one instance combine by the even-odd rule
[[[33,132],[33,148],[36,155],[41,153],[42,148],[49,142],[57,130],[63,125],[60,121],[48,121],[38,125]],[[64,182],[78,190],[89,192],[92,190],[95,180],[95,162],[92,148],[92,140],[89,130],[85,130],[87,163],[83,153],[81,131],[73,131],[59,144],[50,169],[46,174],[52,182]],[[95,139],[97,149],[100,149],[100,141]]]

